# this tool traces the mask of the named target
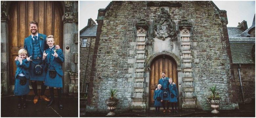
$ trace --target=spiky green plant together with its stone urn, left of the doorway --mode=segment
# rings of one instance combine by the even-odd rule
[[[107,104],[108,110],[110,110],[110,112],[106,116],[114,116],[114,115],[116,115],[114,110],[116,110],[116,106],[120,102],[119,99],[117,99],[116,90],[117,89],[113,90],[113,89],[110,88],[110,92],[108,92],[108,94],[110,95],[110,98],[106,99],[105,103]]]

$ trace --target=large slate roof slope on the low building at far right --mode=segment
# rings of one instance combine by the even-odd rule
[[[255,44],[255,37],[229,37],[231,56],[233,64],[252,64],[252,46]]]

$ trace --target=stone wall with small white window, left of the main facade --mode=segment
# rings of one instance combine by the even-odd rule
[[[88,44],[87,47],[81,47],[82,44],[82,38],[87,38]],[[91,74],[91,68],[92,68],[92,60],[93,60],[93,53],[94,53],[94,46],[95,46],[95,40],[96,37],[80,37],[80,88],[81,83],[84,83],[83,90],[80,89],[80,92],[86,91],[86,82],[89,82],[90,74]]]

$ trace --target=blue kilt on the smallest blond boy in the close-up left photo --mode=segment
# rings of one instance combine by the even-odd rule
[[[29,79],[27,79],[27,83],[25,85],[20,85],[20,78],[26,78],[17,76],[15,79],[15,85],[14,85],[14,95],[26,95],[29,94]]]

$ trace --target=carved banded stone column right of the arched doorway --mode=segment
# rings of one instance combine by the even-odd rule
[[[181,61],[183,65],[183,77],[182,77],[182,91],[184,96],[182,99],[182,109],[194,109],[196,108],[196,97],[194,95],[194,78],[192,76],[191,63],[193,62],[193,54],[190,49],[190,30],[191,25],[187,21],[182,21],[180,24],[181,34]]]

